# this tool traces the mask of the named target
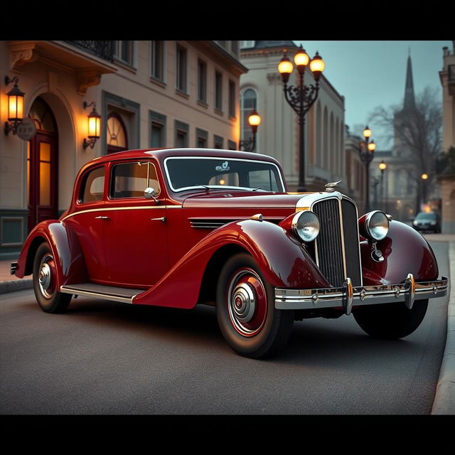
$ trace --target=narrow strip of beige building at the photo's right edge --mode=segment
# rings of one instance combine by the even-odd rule
[[[442,232],[455,234],[455,41],[452,50],[444,47],[443,68],[439,72],[442,86],[442,150],[451,151],[451,162],[441,169]]]

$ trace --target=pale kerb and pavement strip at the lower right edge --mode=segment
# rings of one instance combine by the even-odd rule
[[[432,414],[455,414],[455,242],[449,244],[450,296],[447,338]]]

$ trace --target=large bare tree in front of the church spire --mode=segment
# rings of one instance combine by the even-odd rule
[[[414,107],[378,106],[369,118],[369,122],[389,132],[387,139],[394,141],[394,151],[407,161],[406,171],[416,191],[416,212],[420,201],[427,200],[428,188],[432,188],[437,179],[442,128],[440,98],[440,90],[425,87],[417,95]],[[422,179],[423,174],[427,174],[426,180]]]

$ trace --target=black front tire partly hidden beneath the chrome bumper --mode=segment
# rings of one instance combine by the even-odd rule
[[[353,311],[360,328],[373,338],[397,340],[414,332],[427,313],[428,299],[416,300],[412,309],[405,304],[360,306]]]

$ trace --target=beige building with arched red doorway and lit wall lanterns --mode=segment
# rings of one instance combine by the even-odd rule
[[[29,139],[0,134],[0,259],[17,257],[34,225],[68,208],[90,159],[160,146],[237,149],[246,71],[238,41],[0,41],[1,120],[14,86],[4,78],[16,76],[23,117],[36,127]],[[94,107],[100,139],[85,146]]]

